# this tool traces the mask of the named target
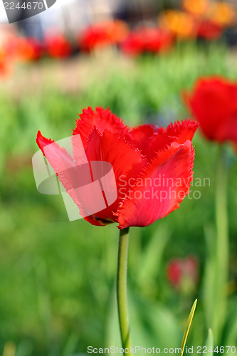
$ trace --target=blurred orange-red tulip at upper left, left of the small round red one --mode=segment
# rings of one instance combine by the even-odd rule
[[[42,45],[36,38],[16,37],[13,46],[19,61],[37,61],[42,56]]]

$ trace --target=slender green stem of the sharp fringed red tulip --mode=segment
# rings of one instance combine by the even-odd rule
[[[120,321],[120,335],[124,355],[133,355],[130,323],[127,308],[127,251],[129,228],[120,230],[120,240],[117,256],[117,307]]]

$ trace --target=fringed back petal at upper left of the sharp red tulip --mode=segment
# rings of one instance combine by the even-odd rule
[[[120,117],[112,114],[109,109],[92,108],[84,109],[83,113],[79,115],[80,119],[76,120],[76,127],[73,130],[73,135],[80,134],[83,141],[83,146],[86,148],[88,144],[88,137],[93,131],[94,125],[99,132],[104,132],[105,129],[113,132],[127,133],[128,127],[122,122]]]

